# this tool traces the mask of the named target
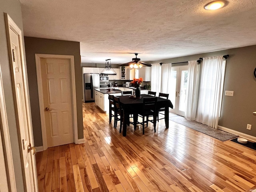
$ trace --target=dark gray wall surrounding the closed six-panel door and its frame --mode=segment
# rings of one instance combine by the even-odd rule
[[[42,146],[43,144],[36,78],[35,54],[56,54],[74,56],[78,138],[84,138],[82,119],[82,76],[80,62],[80,43],[33,37],[24,37],[24,39],[28,67],[28,86],[30,93],[30,105],[32,112],[32,124],[35,146]]]

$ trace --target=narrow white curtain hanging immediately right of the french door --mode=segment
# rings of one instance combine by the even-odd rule
[[[197,61],[188,62],[188,83],[185,118],[196,120],[200,65]]]

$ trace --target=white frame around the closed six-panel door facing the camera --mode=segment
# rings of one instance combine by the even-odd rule
[[[36,57],[36,76],[37,76],[37,86],[38,86],[38,97],[39,97],[39,108],[40,108],[43,150],[46,150],[48,148],[48,145],[47,145],[45,116],[44,116],[44,100],[43,100],[43,89],[42,89],[43,86],[42,86],[41,58],[70,60],[70,72],[71,72],[70,82],[71,82],[71,89],[72,89],[72,101],[71,102],[72,102],[73,132],[74,132],[74,142],[76,144],[78,144],[74,56],[72,56],[72,55],[35,54],[35,57]]]

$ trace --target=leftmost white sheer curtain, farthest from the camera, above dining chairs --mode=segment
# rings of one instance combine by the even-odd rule
[[[158,96],[159,92],[161,92],[161,73],[161,65],[159,63],[152,64],[150,90],[156,92],[156,96]]]

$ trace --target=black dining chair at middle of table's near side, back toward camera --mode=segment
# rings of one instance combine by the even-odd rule
[[[138,115],[142,117],[142,122],[137,122],[142,124],[142,133],[144,134],[144,124],[146,117],[146,126],[148,126],[148,121],[154,124],[154,132],[156,132],[156,101],[157,97],[144,97],[142,109],[138,111]],[[153,116],[153,120],[149,120],[148,116]]]

